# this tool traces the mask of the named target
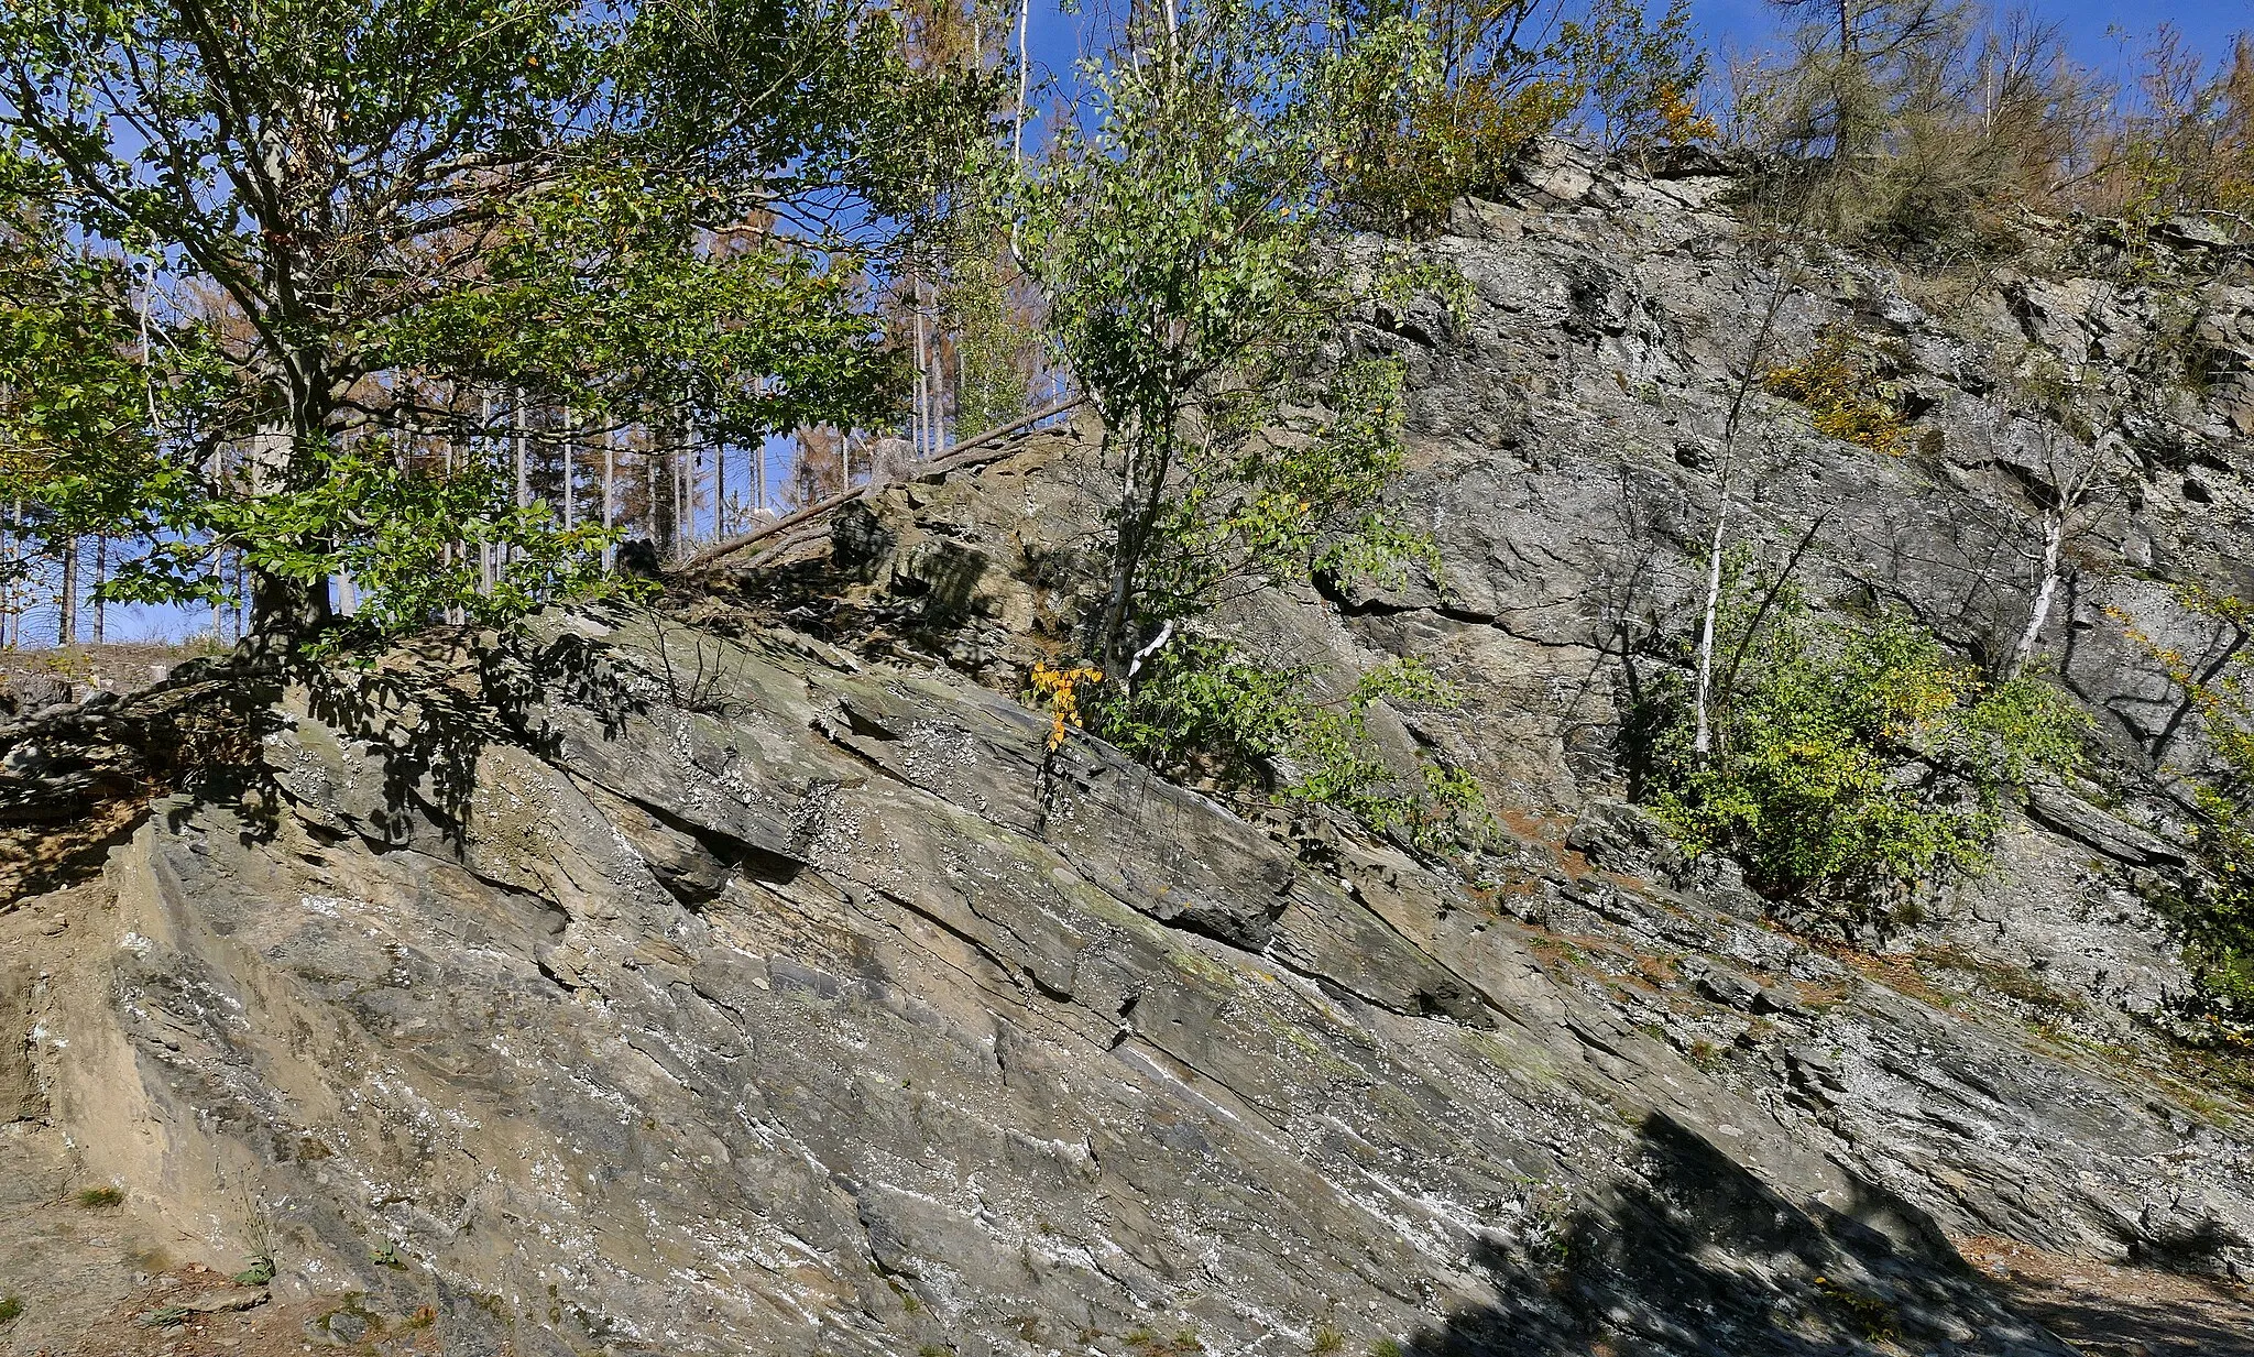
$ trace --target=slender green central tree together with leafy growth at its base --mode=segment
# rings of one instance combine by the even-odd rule
[[[1388,665],[1325,701],[1328,674],[1210,622],[1255,591],[1434,564],[1384,505],[1404,370],[1357,354],[1346,322],[1373,291],[1402,302],[1447,280],[1350,252],[1325,169],[1352,135],[1334,95],[1368,54],[1235,0],[1138,38],[1086,70],[1093,106],[1021,196],[1057,356],[1102,415],[1116,478],[1075,710],[1165,773],[1332,805],[1431,848],[1476,814],[1476,787],[1391,769],[1368,712],[1443,688]]]

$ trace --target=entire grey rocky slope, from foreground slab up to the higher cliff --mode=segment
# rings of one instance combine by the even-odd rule
[[[1785,331],[1889,338],[1938,431],[1873,453],[1758,399],[1740,509],[1778,546],[1821,514],[1839,606],[1968,647],[2022,606],[1979,345],[2080,345],[2141,403],[2049,638],[2105,793],[2042,789],[1923,917],[1785,929],[1618,802],[1767,277],[1729,187],[1560,151],[1467,210],[1431,246],[1463,322],[1357,340],[1411,361],[1443,579],[1228,620],[1463,683],[1379,735],[1485,784],[1508,834],[1467,875],[1046,748],[1012,694],[1075,624],[1086,426],[663,609],[0,733],[0,1343],[2249,1350],[2249,1084],[2166,1037],[2186,978],[2139,899],[2182,859],[2144,773],[2198,751],[2105,609],[2173,636],[2159,575],[2243,559],[2254,293],[2195,241],[2159,282],[1796,275]],[[2180,295],[2211,381],[2168,394]]]

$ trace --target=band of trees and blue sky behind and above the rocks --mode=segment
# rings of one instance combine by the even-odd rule
[[[1068,261],[1028,252],[1086,239],[1028,228],[1044,194],[1122,219],[1071,162],[1165,119],[1294,138],[1292,183],[1222,203],[1314,219],[1269,232],[1294,248],[1438,230],[1542,135],[1801,167],[1799,214],[1927,266],[2011,210],[2236,232],[2249,183],[2247,47],[2166,29],[2107,86],[2038,16],[1941,0],[1778,5],[1776,54],[1727,63],[1686,5],[1285,0],[1091,16],[1102,56],[1035,81],[1032,18],[5,7],[0,642],[99,642],[113,600],[207,609],[214,642],[494,620],[602,588],[620,541],[681,559],[1080,394]],[[1240,108],[1113,97],[1199,27],[1258,38]],[[1150,128],[1084,135],[1120,113]]]

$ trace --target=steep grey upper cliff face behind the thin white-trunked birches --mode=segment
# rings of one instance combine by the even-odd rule
[[[1625,789],[1618,735],[1652,678],[1636,651],[1690,636],[1724,489],[1727,541],[1756,559],[1808,534],[1796,579],[1819,604],[1898,609],[1995,660],[2029,620],[2051,473],[2040,422],[1999,415],[1997,374],[2047,363],[2080,388],[2110,473],[2069,536],[2038,660],[2096,715],[2105,757],[2094,782],[2040,787],[1997,870],[1932,899],[1918,926],[1844,938],[1970,947],[2101,1010],[2166,1010],[2189,981],[2141,895],[2182,866],[2182,807],[2153,789],[2207,753],[2128,629],[2200,665],[2243,645],[2173,593],[2247,582],[2243,252],[2186,243],[2089,277],[2074,268],[2103,232],[2033,223],[2017,261],[1952,277],[1754,255],[1715,207],[1733,180],[1681,169],[1537,169],[1521,198],[1479,205],[1434,246],[1476,302],[1461,327],[1409,309],[1393,347],[1411,361],[1422,453],[1404,498],[1447,573],[1348,600],[1359,638],[1454,660],[1474,697],[1429,735],[1508,802],[1567,816]],[[1803,361],[1821,334],[1851,336],[1864,392],[1909,415],[1900,451],[1821,437],[1758,383],[1727,437],[1738,376]]]

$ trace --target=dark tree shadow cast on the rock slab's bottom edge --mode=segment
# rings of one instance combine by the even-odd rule
[[[1400,1343],[1406,1357],[1851,1357],[2058,1352],[1916,1206],[1862,1186],[1796,1204],[1666,1114],[1632,1172],[1533,1247],[1481,1244],[1494,1303]]]

